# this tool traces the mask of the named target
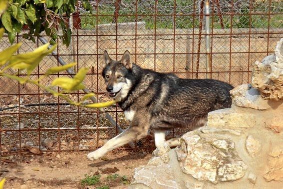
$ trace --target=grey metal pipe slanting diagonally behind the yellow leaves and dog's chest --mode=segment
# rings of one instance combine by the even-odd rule
[[[47,43],[47,41],[46,41],[46,39],[45,39],[44,37],[38,37],[38,38],[39,38],[39,40],[40,40],[43,44],[46,44],[46,43]],[[48,48],[51,48],[51,45],[49,45]],[[66,65],[66,63],[64,62],[64,60],[63,60],[61,57],[58,56],[58,54],[57,54],[56,51],[53,51],[53,52],[52,52],[52,55],[58,57],[58,61],[59,61],[59,63],[60,63],[61,65]],[[74,71],[73,71],[71,68],[67,69],[66,71],[70,74],[71,77],[74,77],[75,73],[74,73]],[[84,88],[84,89],[82,89],[82,90],[83,90],[83,92],[85,92],[85,93],[90,93],[90,91],[89,91],[87,88]],[[96,100],[95,97],[91,97],[90,100],[91,100],[93,103],[96,103],[96,102],[97,102],[97,100]],[[108,113],[106,113],[103,108],[99,108],[99,110],[100,110],[100,112],[106,117],[106,119],[108,119],[108,121],[111,123],[111,125],[112,125],[113,127],[116,127],[116,122],[114,121],[114,119],[113,119]],[[124,131],[121,127],[119,127],[119,126],[117,126],[117,127],[118,127],[118,132],[119,132],[119,133],[122,133],[122,132]],[[128,144],[130,145],[131,148],[135,148],[135,145],[134,145],[133,142],[130,142],[130,143],[128,143]]]

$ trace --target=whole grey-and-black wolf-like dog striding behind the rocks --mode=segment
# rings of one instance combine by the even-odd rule
[[[164,142],[177,146],[178,139],[165,141],[167,130],[196,129],[205,124],[209,112],[231,107],[229,91],[233,86],[228,83],[214,79],[181,79],[171,73],[143,69],[132,63],[129,51],[125,51],[119,61],[112,60],[104,51],[103,59],[106,90],[131,124],[89,153],[89,160],[97,160],[113,149],[144,138],[150,128],[154,130],[156,147]]]

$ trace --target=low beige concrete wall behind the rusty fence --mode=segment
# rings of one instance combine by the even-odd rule
[[[276,42],[282,37],[282,28],[271,29],[270,32],[279,34],[267,34],[267,29],[213,29],[212,37],[212,74],[214,79],[231,82],[234,86],[250,81],[251,74],[245,72],[252,70],[256,60],[261,60],[267,55],[266,51],[273,51]],[[281,33],[280,33],[281,32]],[[194,33],[194,35],[193,35]],[[205,33],[202,31],[202,33]],[[246,33],[246,34],[245,34]],[[136,36],[137,34],[137,36]],[[156,34],[156,35],[154,35]],[[174,35],[175,34],[175,35]],[[102,65],[102,54],[104,49],[112,54],[112,57],[121,57],[125,50],[133,54],[133,61],[144,68],[155,69],[160,72],[181,72],[177,75],[183,78],[192,78],[196,74],[197,49],[198,49],[198,29],[146,29],[144,22],[129,24],[104,24],[99,25],[98,30],[75,30],[73,32],[73,42],[69,48],[61,43],[58,53],[66,63],[78,62],[79,67],[88,67],[89,73],[86,78],[86,85],[93,91],[104,92],[104,81],[100,75]],[[117,36],[116,36],[117,35]],[[202,34],[200,44],[199,71],[206,71],[205,58],[205,35]],[[19,37],[19,40],[23,39]],[[23,41],[20,52],[26,52],[36,47],[30,41]],[[0,49],[8,46],[8,40],[0,41]],[[39,42],[40,45],[40,42]],[[135,54],[136,52],[136,54]],[[230,54],[230,52],[232,52]],[[250,53],[249,53],[250,52]],[[175,53],[175,55],[174,55]],[[74,54],[74,55],[72,55]],[[98,54],[98,55],[97,55]],[[154,55],[156,54],[156,55]],[[97,63],[98,62],[98,63]],[[47,56],[40,64],[39,73],[50,67],[57,65],[56,58]],[[188,66],[188,70],[185,68]],[[217,73],[223,71],[232,73]],[[97,69],[98,68],[98,69]],[[55,76],[54,76],[55,77]],[[199,78],[204,78],[205,73],[200,73]],[[2,79],[3,80],[3,79]],[[44,84],[50,83],[51,79],[42,81]],[[5,81],[6,82],[6,81]],[[17,83],[6,82],[11,87],[7,87],[1,93],[17,93]],[[98,83],[98,86],[97,86]],[[21,87],[22,88],[22,87]],[[3,89],[2,89],[3,90]],[[25,86],[25,91],[37,93],[37,88]]]

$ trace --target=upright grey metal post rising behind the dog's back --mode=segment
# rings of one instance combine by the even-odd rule
[[[205,2],[206,78],[211,78],[209,0]]]

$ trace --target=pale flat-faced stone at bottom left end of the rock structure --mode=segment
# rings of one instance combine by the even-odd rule
[[[152,189],[180,189],[168,164],[140,166],[135,169],[133,184],[143,184]]]

